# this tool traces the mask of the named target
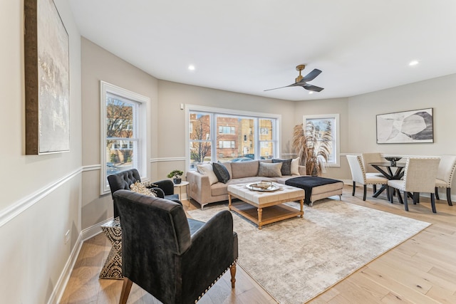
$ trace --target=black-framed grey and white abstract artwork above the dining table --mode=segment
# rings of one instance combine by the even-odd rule
[[[432,108],[377,115],[378,144],[434,142]]]

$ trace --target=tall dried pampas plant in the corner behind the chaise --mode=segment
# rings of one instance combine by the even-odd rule
[[[299,157],[299,164],[306,166],[306,174],[318,176],[328,162],[331,153],[331,123],[325,130],[319,130],[312,122],[294,126],[293,148]]]

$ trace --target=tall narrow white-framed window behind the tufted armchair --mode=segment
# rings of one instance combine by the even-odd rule
[[[100,82],[101,194],[110,192],[108,175],[138,169],[147,179],[147,113],[150,99]],[[140,110],[145,108],[145,110]]]

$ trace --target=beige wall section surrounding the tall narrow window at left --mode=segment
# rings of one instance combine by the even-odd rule
[[[82,227],[90,228],[113,216],[110,194],[100,196],[100,80],[150,98],[150,158],[157,157],[157,79],[81,38],[83,172]],[[154,165],[155,166],[155,165]],[[152,167],[154,167],[152,166]],[[152,169],[155,180],[156,169]]]

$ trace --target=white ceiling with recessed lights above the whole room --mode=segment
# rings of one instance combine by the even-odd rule
[[[68,1],[82,36],[177,83],[311,100],[456,73],[454,0]],[[264,92],[301,63],[323,70],[309,83],[325,90]]]

